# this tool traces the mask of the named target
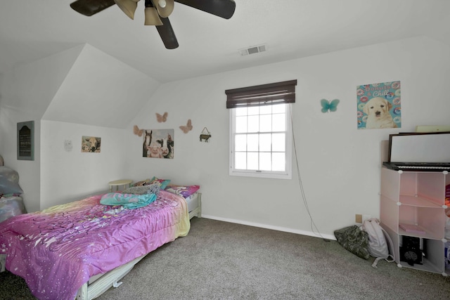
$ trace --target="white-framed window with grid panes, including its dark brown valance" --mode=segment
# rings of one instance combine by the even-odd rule
[[[230,175],[290,179],[290,103],[296,80],[225,91],[230,109]]]

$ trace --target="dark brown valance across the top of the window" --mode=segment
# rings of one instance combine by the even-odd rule
[[[226,90],[226,108],[295,103],[297,80]]]

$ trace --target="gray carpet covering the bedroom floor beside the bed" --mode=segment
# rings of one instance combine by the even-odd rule
[[[450,299],[450,277],[360,259],[338,242],[210,219],[146,256],[98,299]],[[0,273],[0,299],[33,299]]]

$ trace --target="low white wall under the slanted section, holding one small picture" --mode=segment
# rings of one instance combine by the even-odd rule
[[[81,152],[82,136],[100,137],[101,152]],[[124,129],[42,121],[41,209],[108,191],[109,181],[122,178],[123,136]]]

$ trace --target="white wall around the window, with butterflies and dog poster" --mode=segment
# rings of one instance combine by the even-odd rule
[[[214,74],[160,86],[127,129],[127,176],[160,176],[201,185],[203,214],[214,219],[312,234],[304,201],[321,234],[354,223],[355,214],[379,216],[380,141],[418,124],[448,124],[449,48],[428,38],[406,39],[326,55]],[[299,173],[292,180],[229,176],[226,89],[297,79],[293,124]],[[358,130],[356,86],[401,81],[402,128]],[[340,99],[322,113],[320,100]],[[155,112],[168,112],[158,123]],[[193,131],[180,125],[192,119]],[[141,157],[132,126],[175,129],[174,159]],[[210,143],[200,143],[204,127]],[[295,162],[295,158],[293,162]]]

